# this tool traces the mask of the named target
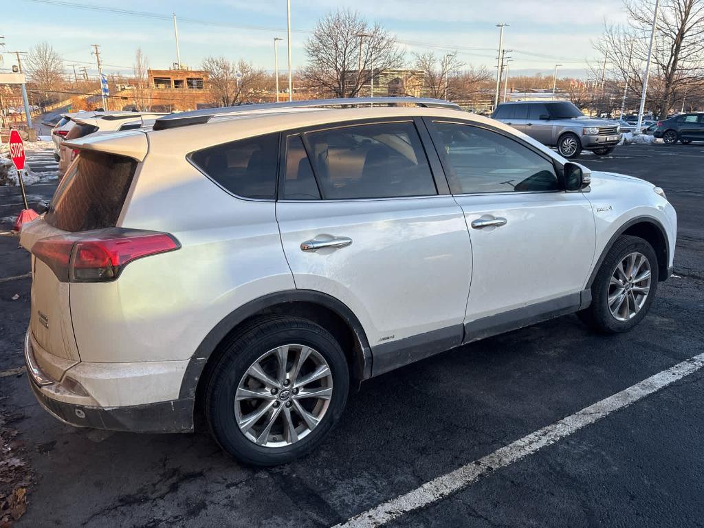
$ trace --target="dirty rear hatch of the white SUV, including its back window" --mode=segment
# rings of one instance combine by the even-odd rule
[[[32,253],[34,356],[56,380],[80,361],[70,315],[70,282],[63,272],[70,251],[67,255],[61,248],[70,248],[65,241],[80,232],[117,225],[137,163],[114,153],[81,151],[56,189],[49,210],[21,232],[20,244]]]

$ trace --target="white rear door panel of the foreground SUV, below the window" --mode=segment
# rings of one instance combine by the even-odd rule
[[[451,196],[277,203],[296,288],[338,298],[372,346],[463,321],[472,252]],[[306,241],[339,244],[301,250]]]

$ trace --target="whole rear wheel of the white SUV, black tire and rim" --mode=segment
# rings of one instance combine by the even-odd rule
[[[349,370],[332,334],[309,320],[255,320],[223,344],[205,391],[210,434],[244,463],[271,466],[313,451],[337,424]]]

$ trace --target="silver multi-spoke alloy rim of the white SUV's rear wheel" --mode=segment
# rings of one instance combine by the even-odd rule
[[[320,424],[332,397],[325,358],[300,344],[272,348],[242,376],[235,393],[239,430],[254,444],[284,447]]]

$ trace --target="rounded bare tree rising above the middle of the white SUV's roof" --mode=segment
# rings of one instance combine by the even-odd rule
[[[337,97],[356,97],[374,71],[399,68],[403,51],[379,23],[369,25],[348,9],[327,13],[306,40],[308,65],[303,77]]]

